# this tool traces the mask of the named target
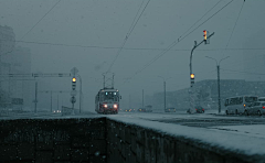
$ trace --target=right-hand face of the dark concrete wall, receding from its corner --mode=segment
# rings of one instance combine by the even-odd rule
[[[151,129],[107,120],[109,163],[244,163],[264,162],[183,137],[170,137]]]

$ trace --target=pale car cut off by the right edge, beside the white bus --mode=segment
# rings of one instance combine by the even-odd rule
[[[245,109],[245,115],[258,115],[262,116],[265,113],[265,101],[254,102],[251,107]]]

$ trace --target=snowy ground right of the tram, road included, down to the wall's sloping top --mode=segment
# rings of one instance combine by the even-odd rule
[[[204,142],[212,146],[236,151],[247,155],[265,155],[265,118],[264,117],[244,117],[244,116],[215,116],[208,113],[180,115],[180,113],[120,113],[109,116],[110,119],[141,126],[163,132],[170,135],[186,137],[195,139],[198,142]],[[177,120],[173,123],[172,119]],[[214,127],[182,124],[183,121],[200,123],[211,121],[221,121],[221,126]],[[163,122],[166,121],[166,122]],[[172,123],[170,123],[170,121]],[[233,121],[234,123],[225,123]],[[259,124],[243,124],[244,121],[255,121]]]

